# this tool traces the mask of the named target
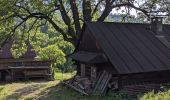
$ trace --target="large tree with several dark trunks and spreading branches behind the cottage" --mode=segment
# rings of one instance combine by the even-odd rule
[[[48,25],[59,32],[65,41],[76,45],[86,21],[104,21],[112,12],[134,10],[149,18],[151,11],[169,15],[169,0],[0,0],[0,36],[6,41],[19,30],[29,38],[31,30]],[[2,42],[1,41],[1,42]],[[4,43],[4,42],[2,42]]]

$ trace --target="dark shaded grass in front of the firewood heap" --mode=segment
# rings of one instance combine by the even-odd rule
[[[47,88],[39,94],[36,100],[113,100],[106,96],[85,96],[75,90],[63,85],[62,83]],[[117,100],[117,99],[115,99]]]

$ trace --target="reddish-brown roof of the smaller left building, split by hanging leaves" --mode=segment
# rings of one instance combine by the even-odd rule
[[[11,54],[12,41],[7,42],[2,48],[0,52],[0,59],[8,59],[13,58]],[[31,50],[32,46],[29,42],[26,42],[27,52],[21,56],[21,58],[34,58],[36,56],[35,51]]]

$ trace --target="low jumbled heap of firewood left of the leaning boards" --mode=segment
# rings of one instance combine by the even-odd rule
[[[77,90],[84,91],[87,94],[92,92],[92,82],[87,77],[75,76],[72,80],[66,81],[66,83],[72,85],[72,87]]]

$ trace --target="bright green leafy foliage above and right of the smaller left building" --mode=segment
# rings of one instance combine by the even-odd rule
[[[45,30],[44,27],[41,30]],[[43,33],[45,32],[45,33]],[[66,55],[71,54],[74,47],[71,43],[63,40],[60,33],[49,28],[48,31],[30,31],[29,43],[36,53],[36,60],[51,60],[52,70],[70,72],[73,71],[73,62]],[[36,36],[35,36],[36,34]],[[23,38],[20,32],[13,37],[11,53],[13,57],[19,58],[27,51],[27,38]]]

